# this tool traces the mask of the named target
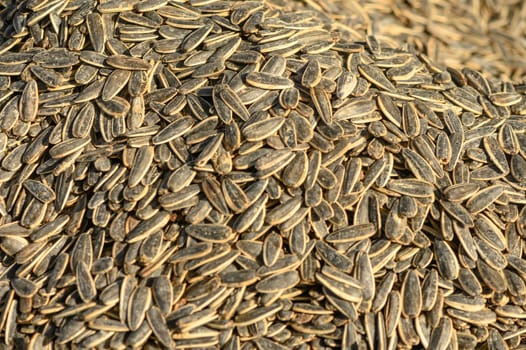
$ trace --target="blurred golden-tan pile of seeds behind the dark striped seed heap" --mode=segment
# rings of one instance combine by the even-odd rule
[[[502,80],[526,79],[526,1],[334,1],[341,14],[363,9],[372,32],[410,43],[435,62]]]

